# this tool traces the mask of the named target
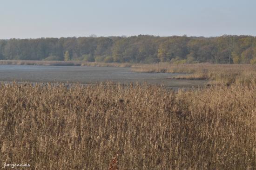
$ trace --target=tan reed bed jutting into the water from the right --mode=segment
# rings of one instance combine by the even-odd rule
[[[156,63],[132,66],[137,72],[188,73],[176,79],[207,79],[210,84],[256,85],[256,65],[252,64],[170,64]]]

